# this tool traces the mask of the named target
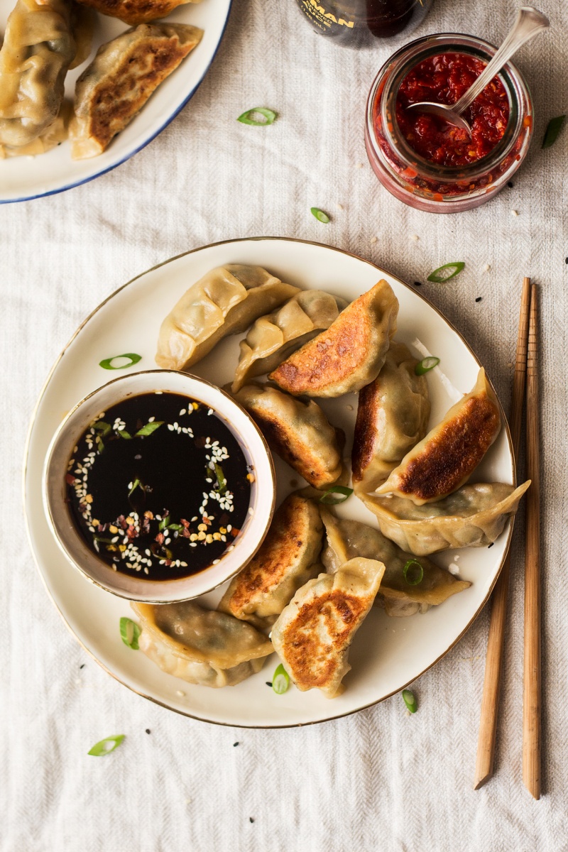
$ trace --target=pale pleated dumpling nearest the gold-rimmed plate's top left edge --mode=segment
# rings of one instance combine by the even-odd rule
[[[162,323],[156,363],[169,370],[188,369],[223,337],[245,331],[298,291],[261,267],[227,263],[212,269],[181,296]]]

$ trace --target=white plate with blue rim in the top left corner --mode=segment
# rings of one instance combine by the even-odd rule
[[[0,204],[12,201],[27,201],[43,195],[62,193],[115,169],[148,142],[161,133],[198,89],[221,43],[227,26],[232,0],[203,0],[202,3],[186,3],[174,9],[166,23],[192,24],[204,31],[198,46],[181,62],[181,65],[164,80],[154,92],[141,112],[122,133],[115,136],[110,146],[98,157],[83,160],[71,158],[68,141],[37,157],[10,157],[0,159]],[[4,32],[6,21],[15,0],[0,0],[0,32]],[[93,49],[89,60],[67,73],[65,94],[72,100],[77,77],[93,60],[96,50],[129,25],[118,18],[97,14]],[[235,116],[235,118],[237,118]],[[167,152],[166,152],[167,156]]]

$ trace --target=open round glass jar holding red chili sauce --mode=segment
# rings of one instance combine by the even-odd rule
[[[480,38],[440,33],[405,44],[376,75],[367,99],[365,147],[379,181],[404,204],[431,213],[471,210],[496,195],[524,160],[533,128],[532,99],[511,62],[497,75],[508,96],[508,124],[485,157],[460,167],[431,163],[410,147],[396,120],[400,83],[422,60],[459,53],[485,64],[495,52],[492,44]]]

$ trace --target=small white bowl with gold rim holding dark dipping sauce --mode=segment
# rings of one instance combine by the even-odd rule
[[[248,464],[255,469],[250,489],[250,509],[234,549],[217,565],[190,577],[171,580],[141,579],[113,571],[89,550],[77,532],[66,504],[67,463],[73,447],[101,411],[129,396],[161,390],[186,394],[215,410],[238,440]],[[223,390],[189,373],[148,370],[130,373],[103,385],[69,412],[54,435],[43,470],[43,501],[60,549],[87,579],[131,601],[169,603],[204,595],[236,574],[255,555],[270,526],[274,510],[275,478],[267,443],[252,418]]]

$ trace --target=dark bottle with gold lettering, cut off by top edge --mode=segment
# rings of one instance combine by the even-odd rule
[[[432,0],[295,0],[315,32],[345,47],[368,48],[377,39],[410,32]]]

